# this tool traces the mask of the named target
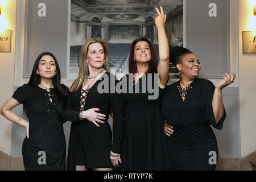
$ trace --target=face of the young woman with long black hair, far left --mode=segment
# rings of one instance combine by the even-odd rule
[[[42,78],[52,79],[56,73],[56,64],[52,56],[44,55],[38,65],[36,72]]]

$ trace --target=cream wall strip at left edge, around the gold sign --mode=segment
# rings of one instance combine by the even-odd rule
[[[7,27],[12,30],[11,52],[0,52],[0,105],[13,94],[14,88],[14,64],[15,64],[15,38],[16,38],[16,0],[2,0],[2,16],[7,21]],[[0,115],[0,151],[11,155],[11,122]]]

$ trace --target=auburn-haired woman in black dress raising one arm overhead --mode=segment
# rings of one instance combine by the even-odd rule
[[[160,102],[168,81],[169,46],[164,30],[166,15],[163,7],[156,7],[158,16],[155,24],[158,28],[159,63],[154,46],[147,38],[136,39],[131,44],[129,56],[129,73],[133,77],[123,77],[127,80],[127,92],[123,93],[125,106],[125,129],[122,140],[121,170],[169,170],[171,169],[168,156]],[[151,75],[158,73],[156,79]],[[154,75],[154,74],[153,74]],[[154,76],[153,76],[154,77]],[[132,79],[132,80],[130,80]],[[154,86],[158,97],[150,100],[149,82]],[[133,82],[133,88],[129,88]],[[139,86],[139,93],[129,93]],[[142,90],[146,90],[146,93]]]

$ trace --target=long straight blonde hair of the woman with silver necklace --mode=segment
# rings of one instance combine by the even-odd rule
[[[77,89],[82,86],[84,81],[86,80],[86,76],[89,75],[89,69],[88,65],[86,64],[86,57],[88,53],[88,49],[90,44],[93,43],[100,43],[101,46],[104,49],[104,55],[105,55],[105,64],[104,64],[104,69],[108,71],[108,63],[109,63],[109,49],[108,49],[108,44],[105,42],[105,40],[102,40],[101,38],[92,38],[90,40],[87,40],[81,48],[80,51],[80,67],[79,67],[79,75],[76,78],[76,80],[73,82],[71,89],[69,90],[70,92],[75,92]]]

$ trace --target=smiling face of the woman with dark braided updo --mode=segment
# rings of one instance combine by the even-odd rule
[[[188,53],[182,57],[182,64],[177,64],[177,69],[181,71],[182,77],[195,79],[200,73],[200,61],[193,53]]]

